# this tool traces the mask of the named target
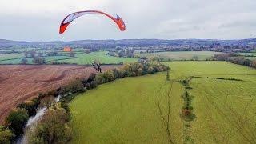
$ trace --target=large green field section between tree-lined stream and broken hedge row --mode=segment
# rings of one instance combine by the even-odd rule
[[[157,95],[167,114],[170,90],[165,74],[124,78],[81,94],[70,104],[75,130],[74,143],[167,143],[168,137],[158,110]],[[160,89],[162,87],[162,89]],[[171,94],[170,130],[182,142],[182,86],[174,84]],[[175,101],[175,102],[174,102]],[[171,132],[171,133],[172,133]]]

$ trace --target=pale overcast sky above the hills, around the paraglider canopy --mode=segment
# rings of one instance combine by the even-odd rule
[[[114,22],[90,14],[58,34],[62,19],[79,10],[118,14]],[[256,37],[256,0],[1,0],[0,38],[26,41]]]

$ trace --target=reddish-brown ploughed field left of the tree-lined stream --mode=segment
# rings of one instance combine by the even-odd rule
[[[102,70],[110,68],[102,66]],[[0,124],[20,102],[93,72],[91,66],[0,66]]]

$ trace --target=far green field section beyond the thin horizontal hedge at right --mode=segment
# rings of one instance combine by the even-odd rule
[[[256,78],[256,70],[230,62],[164,62],[170,66],[171,77],[181,80],[190,76],[241,78],[246,81]]]

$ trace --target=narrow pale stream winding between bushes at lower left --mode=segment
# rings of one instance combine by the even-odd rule
[[[54,102],[59,102],[59,100],[61,99],[61,95],[58,95],[58,97],[54,98]],[[37,110],[37,113],[34,116],[31,116],[29,118],[29,120],[26,123],[26,127],[24,128],[24,134],[22,134],[21,136],[19,136],[17,138],[17,140],[14,142],[15,144],[26,144],[27,139],[26,139],[26,132],[33,130],[34,126],[36,126],[36,123],[40,120],[40,118],[42,118],[42,116],[44,114],[46,114],[47,111],[47,107],[43,106],[43,107],[39,107]]]

